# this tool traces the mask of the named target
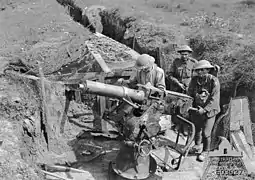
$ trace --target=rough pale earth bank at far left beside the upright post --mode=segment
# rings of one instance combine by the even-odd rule
[[[31,163],[37,153],[32,139],[33,129],[30,129],[37,118],[37,109],[31,102],[34,98],[24,96],[18,81],[1,77],[1,82],[0,179],[40,179],[37,167]],[[26,98],[31,101],[26,101]],[[27,140],[31,142],[27,144]]]

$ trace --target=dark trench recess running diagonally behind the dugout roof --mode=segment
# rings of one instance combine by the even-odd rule
[[[57,0],[57,2],[68,8],[69,15],[73,18],[75,22],[80,23],[85,28],[88,28],[92,33],[95,33],[96,30],[93,26],[90,25],[90,21],[87,16],[82,15],[82,9],[77,6],[74,0]],[[159,62],[159,51],[158,47],[155,47],[154,50],[148,50],[146,48],[140,47],[137,40],[134,37],[129,39],[124,39],[124,34],[127,28],[130,26],[130,22],[135,21],[134,17],[121,18],[120,12],[118,9],[109,9],[102,11],[100,13],[101,23],[103,25],[102,34],[108,36],[126,46],[134,49],[140,54],[146,53],[155,58],[156,64],[160,65]]]

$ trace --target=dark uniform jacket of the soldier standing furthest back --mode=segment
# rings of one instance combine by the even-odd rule
[[[176,58],[173,61],[168,73],[171,91],[184,93],[183,90],[177,85],[178,81],[188,87],[193,73],[192,69],[196,63],[197,60],[191,57],[189,57],[187,61],[180,58]]]

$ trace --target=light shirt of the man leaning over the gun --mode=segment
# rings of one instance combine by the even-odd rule
[[[148,82],[158,89],[165,90],[166,84],[164,70],[154,64],[152,70],[149,72],[137,71],[136,75],[130,78],[128,84],[130,87],[134,87],[136,84],[145,85]]]

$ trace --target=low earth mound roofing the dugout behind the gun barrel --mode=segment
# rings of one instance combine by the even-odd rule
[[[73,70],[82,73],[100,72],[102,69],[95,53],[113,69],[125,68],[123,62],[130,62],[127,66],[132,66],[134,55],[138,54],[126,45],[100,34],[88,32],[88,36],[70,36],[67,33],[66,37],[50,38],[34,44],[21,57],[14,58],[10,68],[38,76],[40,61],[45,75],[66,74]],[[114,67],[114,63],[117,67]]]

